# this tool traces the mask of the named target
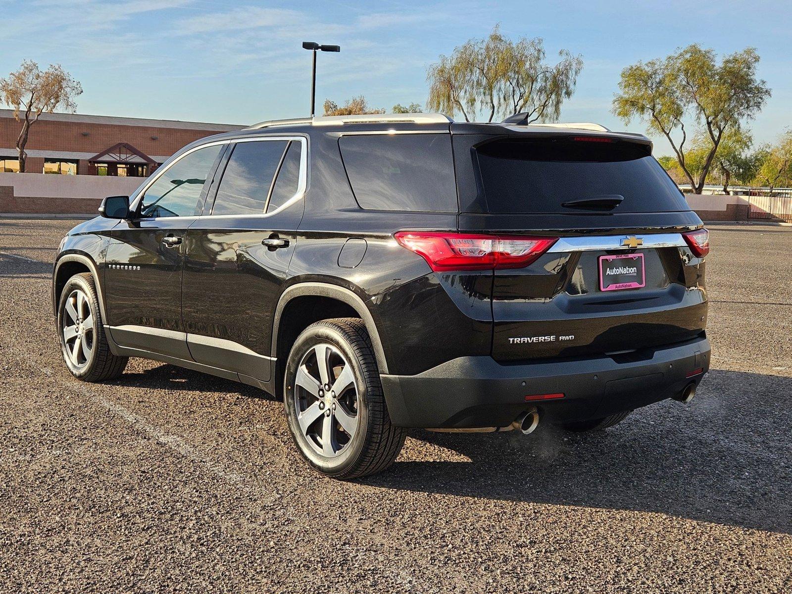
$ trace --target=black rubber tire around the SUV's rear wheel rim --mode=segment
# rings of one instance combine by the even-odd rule
[[[327,360],[331,356],[335,356],[337,357],[336,362],[343,364],[343,367],[341,365],[333,367],[331,364],[327,364],[326,367],[329,368],[331,374],[337,374],[337,370],[345,369],[348,365],[354,376],[355,384],[351,387],[355,393],[355,405],[350,406],[349,409],[346,405],[344,407],[346,411],[352,409],[355,411],[356,428],[352,432],[352,436],[349,436],[348,432],[345,432],[341,427],[341,423],[336,421],[338,414],[336,406],[339,408],[342,406],[341,394],[337,394],[339,398],[337,401],[334,400],[335,392],[332,393],[332,397],[329,396],[329,391],[327,394],[323,394],[320,380],[318,390],[323,395],[322,398],[318,398],[303,388],[304,380],[301,383],[297,381],[297,371],[301,365],[303,368],[307,368],[310,363],[306,363],[306,361],[310,361],[312,353],[317,352],[317,349],[324,348],[327,348],[326,352],[331,353],[327,355]],[[314,356],[318,368],[318,356],[315,354]],[[314,376],[316,374],[318,371],[314,372]],[[333,380],[339,377],[340,372],[330,378],[330,382],[333,383]],[[331,384],[325,386],[328,385]],[[349,397],[347,396],[347,398]],[[327,405],[325,400],[328,402]],[[332,455],[324,455],[321,451],[324,440],[329,439],[329,437],[324,437],[324,428],[321,429],[322,444],[319,444],[313,434],[310,434],[310,428],[303,432],[300,427],[298,415],[301,413],[298,408],[301,408],[303,413],[307,413],[308,402],[322,406],[323,410],[319,413],[320,416],[312,421],[314,425],[310,425],[310,427],[315,428],[318,432],[320,429],[315,424],[320,421],[328,424],[332,422],[333,428],[329,429],[330,433],[336,432],[338,440],[348,439],[344,445],[339,446],[340,450]],[[332,405],[329,404],[330,402]],[[327,408],[324,408],[325,406]],[[332,417],[330,406],[333,411],[337,411],[332,413]],[[357,318],[334,318],[315,322],[297,337],[295,344],[291,347],[284,375],[284,408],[291,436],[300,454],[314,470],[329,477],[350,479],[382,472],[394,462],[404,445],[406,431],[403,428],[394,427],[390,422],[383,396],[383,386],[379,381],[379,370],[374,350],[371,347],[371,338],[368,336],[364,323]],[[329,421],[325,421],[324,415],[329,417]],[[324,425],[324,427],[329,428],[329,425]]]

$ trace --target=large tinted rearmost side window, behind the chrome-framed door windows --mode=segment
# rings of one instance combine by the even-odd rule
[[[348,135],[339,145],[361,208],[457,211],[451,135]]]

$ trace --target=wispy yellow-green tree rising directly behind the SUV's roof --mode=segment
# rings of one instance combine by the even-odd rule
[[[558,119],[583,69],[580,55],[558,55],[558,63],[545,63],[543,40],[512,41],[497,25],[486,39],[469,40],[428,67],[426,106],[466,121],[477,112],[489,122],[518,112],[527,112],[528,124]]]

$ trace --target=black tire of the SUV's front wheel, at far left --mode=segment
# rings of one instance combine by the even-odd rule
[[[72,326],[71,322],[74,320],[67,311],[67,302],[69,301],[71,302],[72,310],[74,310],[76,303],[74,295],[77,294],[77,291],[82,292],[82,295],[84,295],[85,305],[83,307],[88,308],[91,316],[90,323],[87,326],[79,323]],[[82,316],[82,313],[79,315]],[[75,274],[67,280],[60,294],[57,319],[56,329],[60,341],[61,355],[63,356],[63,363],[66,364],[71,375],[74,375],[77,379],[82,379],[84,382],[106,382],[110,379],[117,379],[124,373],[124,367],[127,366],[129,357],[115,356],[110,352],[110,345],[105,336],[105,326],[102,323],[99,298],[97,297],[96,287],[93,285],[93,276],[89,272]],[[82,317],[79,321],[82,322]],[[69,339],[68,342],[70,344],[67,345],[67,338],[64,334],[67,326],[74,328],[82,326],[80,338],[81,341],[83,339],[86,340],[86,344],[90,343],[89,354],[86,354],[86,349],[78,352],[77,357],[70,354],[74,350],[74,341]]]

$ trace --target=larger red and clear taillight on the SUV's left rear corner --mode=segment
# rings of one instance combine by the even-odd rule
[[[435,272],[523,268],[558,238],[398,231],[400,246],[419,254]]]

